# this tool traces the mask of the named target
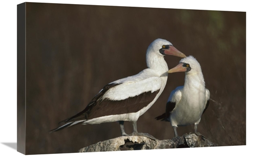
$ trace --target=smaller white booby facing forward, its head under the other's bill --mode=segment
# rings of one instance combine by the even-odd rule
[[[178,136],[177,127],[194,124],[195,133],[202,114],[209,105],[210,92],[205,88],[201,66],[193,56],[180,60],[180,63],[168,70],[168,73],[185,71],[184,86],[179,86],[170,93],[165,113],[157,120],[170,121]]]

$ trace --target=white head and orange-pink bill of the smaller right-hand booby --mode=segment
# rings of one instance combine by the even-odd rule
[[[180,63],[168,70],[168,73],[174,73],[174,72],[186,72],[187,74],[189,73],[201,73],[201,66],[199,62],[193,57],[193,56],[188,56],[186,58],[183,58],[180,60]]]

